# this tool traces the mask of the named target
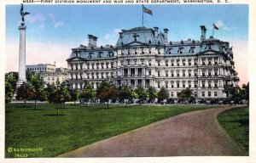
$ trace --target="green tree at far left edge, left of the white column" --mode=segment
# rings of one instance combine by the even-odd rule
[[[16,82],[18,80],[17,73],[9,73],[5,75],[5,103],[11,102],[15,94]]]

